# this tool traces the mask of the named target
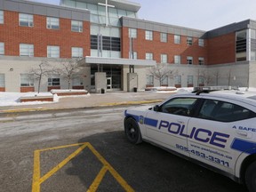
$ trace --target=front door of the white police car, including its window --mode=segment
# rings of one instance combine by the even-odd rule
[[[187,125],[196,98],[178,97],[148,112],[144,120],[148,140],[188,156]]]

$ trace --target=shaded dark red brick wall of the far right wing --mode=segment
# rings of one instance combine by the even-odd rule
[[[236,62],[236,33],[208,39],[208,64]]]

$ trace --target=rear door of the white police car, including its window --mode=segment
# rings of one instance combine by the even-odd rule
[[[189,155],[222,171],[234,173],[236,140],[248,140],[252,133],[239,131],[236,126],[248,126],[250,111],[223,100],[204,100],[197,117],[189,120]],[[236,143],[235,143],[236,144]]]

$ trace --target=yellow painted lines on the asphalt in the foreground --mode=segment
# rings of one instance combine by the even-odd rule
[[[70,148],[70,147],[76,147],[76,146],[80,146],[80,147],[77,148],[76,151],[73,152],[71,155],[69,155],[66,159],[60,162],[60,164],[52,168],[51,171],[45,173],[44,176],[41,177],[41,171],[40,171],[40,153],[41,152],[52,150],[52,149]],[[116,170],[110,164],[108,164],[108,162],[104,159],[104,157],[100,156],[100,153],[95,148],[93,148],[89,142],[85,142],[85,143],[77,143],[77,144],[60,146],[55,148],[44,148],[44,149],[36,150],[34,152],[34,175],[33,175],[33,183],[32,183],[32,192],[40,192],[40,186],[45,180],[48,180],[55,172],[58,172],[60,168],[62,168],[65,164],[68,164],[70,160],[72,160],[75,156],[77,156],[80,152],[82,152],[86,147],[88,147],[92,151],[92,153],[100,160],[101,164],[103,164],[103,167],[101,168],[96,178],[93,180],[92,185],[87,190],[87,192],[94,192],[97,190],[106,172],[110,172],[112,176],[116,179],[116,181],[124,188],[124,190],[128,192],[134,191],[132,187],[121,177],[121,175],[119,175],[116,172]]]

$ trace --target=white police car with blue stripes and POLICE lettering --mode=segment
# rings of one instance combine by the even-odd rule
[[[256,92],[201,87],[173,94],[153,108],[124,111],[124,132],[256,191]],[[219,91],[221,90],[221,91]]]

